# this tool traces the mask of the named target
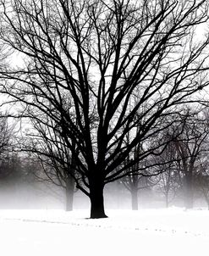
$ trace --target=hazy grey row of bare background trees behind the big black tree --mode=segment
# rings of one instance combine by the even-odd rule
[[[59,152],[60,148],[52,147],[54,144],[47,145],[42,135],[34,139],[34,133],[27,133],[25,139],[21,137],[24,145],[24,151],[21,151],[23,145],[19,142],[19,136],[13,131],[13,127],[8,127],[8,120],[5,117],[2,119],[1,131],[0,184],[2,188],[10,186],[18,192],[20,186],[26,184],[36,186],[41,182],[43,187],[45,184],[47,188],[47,185],[52,183],[55,192],[55,187],[58,186],[62,187],[61,190],[66,193],[63,208],[72,210],[74,192],[77,191],[76,183],[72,176],[67,176],[68,170],[65,168],[68,165],[62,165],[57,155],[59,153],[60,159],[63,159],[63,153],[66,153],[65,157],[68,157],[70,161],[72,160],[70,153],[63,151],[63,148],[62,152]],[[200,199],[201,203],[205,201],[208,206],[208,132],[207,108],[195,112],[191,109],[184,110],[181,122],[178,125],[173,123],[168,130],[163,131],[162,136],[157,138],[162,143],[162,140],[168,142],[169,137],[167,147],[163,147],[160,154],[152,155],[146,161],[132,167],[139,169],[139,164],[141,164],[140,175],[132,174],[129,169],[124,170],[125,175],[118,180],[118,185],[115,183],[112,188],[107,189],[107,197],[111,197],[111,191],[126,194],[127,197],[125,193],[127,190],[129,204],[134,210],[143,207],[139,202],[141,202],[141,195],[143,197],[145,192],[147,195],[152,193],[154,198],[160,198],[161,204],[159,205],[161,206],[181,205],[185,209],[191,209],[195,201],[200,201]],[[42,144],[44,147],[45,154],[43,151],[41,153],[37,151],[35,147],[37,139],[38,145]],[[152,138],[150,139],[153,142]],[[135,148],[125,163],[118,168],[123,168],[129,158],[135,158],[138,150],[143,150],[143,146]],[[151,200],[153,203],[155,199],[151,198]],[[162,203],[163,201],[165,203]]]

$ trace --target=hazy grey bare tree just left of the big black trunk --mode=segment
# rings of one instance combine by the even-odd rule
[[[74,201],[74,181],[79,181],[79,178],[74,171],[75,163],[69,147],[66,146],[62,137],[49,128],[52,123],[42,126],[36,120],[31,120],[31,124],[33,129],[27,131],[25,140],[21,138],[22,142],[19,141],[19,146],[21,150],[32,153],[41,163],[40,171],[34,174],[39,181],[63,187],[66,194],[65,209],[71,211]],[[74,151],[76,152],[75,149]]]

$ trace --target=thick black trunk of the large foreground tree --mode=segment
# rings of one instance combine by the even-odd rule
[[[91,219],[107,218],[104,210],[104,185],[99,179],[90,181]]]

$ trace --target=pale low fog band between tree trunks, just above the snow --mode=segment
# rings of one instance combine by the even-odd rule
[[[65,189],[47,182],[19,183],[2,181],[0,186],[0,209],[65,209]],[[181,194],[173,198],[170,207],[184,208]],[[106,209],[131,209],[131,194],[122,184],[108,184],[104,190]],[[138,192],[139,209],[164,209],[165,198],[157,187]],[[196,194],[194,208],[206,208],[205,200]],[[90,200],[79,190],[74,192],[73,209],[90,209]],[[87,216],[86,216],[87,217]]]

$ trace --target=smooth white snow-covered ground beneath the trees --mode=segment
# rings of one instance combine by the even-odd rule
[[[2,256],[209,255],[209,211],[184,209],[88,211],[1,210]]]

